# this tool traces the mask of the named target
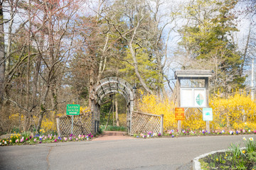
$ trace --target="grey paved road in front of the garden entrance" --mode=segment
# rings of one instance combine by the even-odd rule
[[[0,169],[191,169],[194,157],[227,149],[230,142],[242,142],[242,137],[135,138],[0,147]]]

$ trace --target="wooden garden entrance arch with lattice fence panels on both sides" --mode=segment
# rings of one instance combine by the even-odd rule
[[[108,77],[100,80],[90,91],[91,108],[82,111],[80,115],[74,115],[74,135],[95,134],[100,128],[100,105],[102,99],[108,94],[122,94],[127,102],[127,132],[129,135],[141,132],[163,132],[164,115],[152,115],[134,111],[134,89],[132,86],[118,77]],[[81,111],[80,111],[81,112]],[[57,117],[58,135],[70,134],[71,116]]]

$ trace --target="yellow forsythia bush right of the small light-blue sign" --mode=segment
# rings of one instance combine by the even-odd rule
[[[226,98],[220,96],[220,92],[213,95],[209,103],[215,128],[256,130],[256,104],[246,91],[236,91]]]

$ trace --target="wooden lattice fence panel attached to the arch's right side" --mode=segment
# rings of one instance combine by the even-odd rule
[[[132,132],[138,134],[141,132],[162,132],[163,115],[151,115],[147,113],[132,113]]]

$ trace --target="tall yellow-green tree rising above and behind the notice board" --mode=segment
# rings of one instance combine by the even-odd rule
[[[180,30],[183,40],[179,45],[192,59],[203,61],[201,67],[214,70],[215,86],[225,91],[242,88],[245,81],[241,67],[244,61],[232,40],[233,33],[238,29],[234,23],[235,15],[230,11],[237,2],[192,1],[186,7],[186,17],[191,20]],[[193,68],[193,65],[190,67]]]

